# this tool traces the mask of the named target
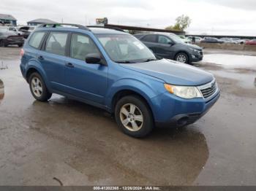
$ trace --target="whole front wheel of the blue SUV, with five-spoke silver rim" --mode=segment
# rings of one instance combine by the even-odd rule
[[[135,138],[148,135],[154,127],[151,110],[137,95],[121,98],[116,104],[115,117],[118,127]]]

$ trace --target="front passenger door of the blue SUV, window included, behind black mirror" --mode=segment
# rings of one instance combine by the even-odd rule
[[[89,36],[72,34],[65,67],[65,85],[70,95],[102,105],[108,89],[108,66],[86,63],[86,55],[94,53],[101,55]]]

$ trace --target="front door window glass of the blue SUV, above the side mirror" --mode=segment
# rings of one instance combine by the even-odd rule
[[[70,44],[70,57],[84,61],[86,55],[91,53],[98,53],[96,44],[89,38],[89,36],[81,34],[72,34]]]

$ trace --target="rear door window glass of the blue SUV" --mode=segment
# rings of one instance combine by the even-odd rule
[[[56,55],[65,55],[67,33],[51,32],[45,44],[45,51]]]

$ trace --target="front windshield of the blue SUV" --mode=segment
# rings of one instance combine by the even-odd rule
[[[142,42],[129,34],[97,34],[99,42],[116,63],[140,63],[157,58]]]

